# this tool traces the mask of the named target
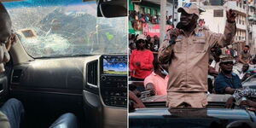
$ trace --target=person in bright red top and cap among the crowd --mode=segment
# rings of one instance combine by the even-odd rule
[[[146,49],[146,37],[143,34],[137,37],[136,48],[132,51],[129,61],[131,80],[143,81],[152,73],[154,55]]]

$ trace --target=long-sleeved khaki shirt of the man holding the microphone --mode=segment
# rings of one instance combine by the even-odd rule
[[[236,23],[226,23],[224,34],[196,27],[187,37],[184,32],[177,36],[176,44],[169,45],[169,37],[160,44],[160,63],[169,62],[167,92],[206,92],[210,49],[214,45],[231,44],[236,35]]]

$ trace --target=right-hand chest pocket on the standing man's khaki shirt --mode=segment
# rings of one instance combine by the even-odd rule
[[[206,52],[206,38],[193,38],[192,47],[195,52]]]

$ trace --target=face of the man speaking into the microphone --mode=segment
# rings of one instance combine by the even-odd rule
[[[182,11],[180,16],[180,22],[183,26],[194,26],[196,24],[196,18],[193,14],[188,14],[185,11]]]

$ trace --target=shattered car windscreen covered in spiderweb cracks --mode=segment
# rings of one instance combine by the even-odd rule
[[[34,58],[126,53],[127,17],[96,16],[96,2],[25,0],[3,3]]]

